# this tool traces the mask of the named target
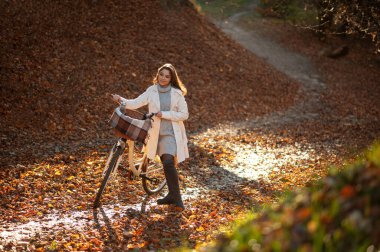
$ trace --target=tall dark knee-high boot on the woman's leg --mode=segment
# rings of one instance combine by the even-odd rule
[[[185,209],[183,205],[181,193],[179,190],[179,181],[177,169],[174,166],[174,157],[172,155],[164,154],[161,157],[164,166],[166,182],[168,184],[169,193],[162,199],[157,200],[158,205],[175,205]]]

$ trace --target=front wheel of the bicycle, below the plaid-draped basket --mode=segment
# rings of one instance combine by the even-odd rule
[[[119,145],[114,145],[111,152],[110,156],[108,157],[108,160],[106,162],[106,167],[103,171],[104,177],[103,181],[99,187],[98,193],[96,194],[96,198],[94,201],[94,208],[98,208],[100,206],[100,199],[102,197],[102,194],[104,190],[106,189],[107,183],[110,180],[111,174],[117,169],[117,166],[120,163],[122,154],[123,154],[124,149],[119,146]]]

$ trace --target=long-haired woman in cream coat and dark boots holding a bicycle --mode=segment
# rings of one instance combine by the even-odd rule
[[[149,113],[157,113],[149,130],[146,152],[149,159],[159,155],[164,166],[169,193],[157,200],[159,205],[173,204],[184,209],[175,162],[189,157],[187,137],[183,121],[189,117],[184,96],[186,87],[171,64],[161,66],[153,79],[153,85],[136,99],[125,99],[117,94],[112,99],[125,101],[128,109],[148,105]]]

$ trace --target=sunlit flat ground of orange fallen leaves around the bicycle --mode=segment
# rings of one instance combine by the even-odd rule
[[[7,170],[1,181],[3,249],[167,249],[210,241],[240,213],[307,185],[324,175],[324,160],[336,160],[335,150],[289,137],[194,137],[193,158],[180,169],[183,212],[157,206],[156,197],[147,198],[140,181],[127,179],[122,169],[102,208],[93,211],[107,148]],[[260,174],[248,169],[252,164]],[[236,171],[244,167],[248,174]]]

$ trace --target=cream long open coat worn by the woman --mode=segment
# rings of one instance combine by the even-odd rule
[[[157,113],[160,110],[160,97],[157,85],[150,86],[144,93],[136,99],[121,98],[126,102],[128,109],[137,109],[148,105],[149,113]],[[183,121],[189,117],[187,103],[182,95],[182,91],[177,88],[171,88],[170,111],[162,111],[162,118],[172,121],[174,136],[177,143],[177,162],[180,163],[189,157],[187,147],[186,130]],[[161,119],[154,117],[152,128],[148,131],[148,142],[145,151],[148,158],[153,159],[157,153],[158,137],[160,133]]]

